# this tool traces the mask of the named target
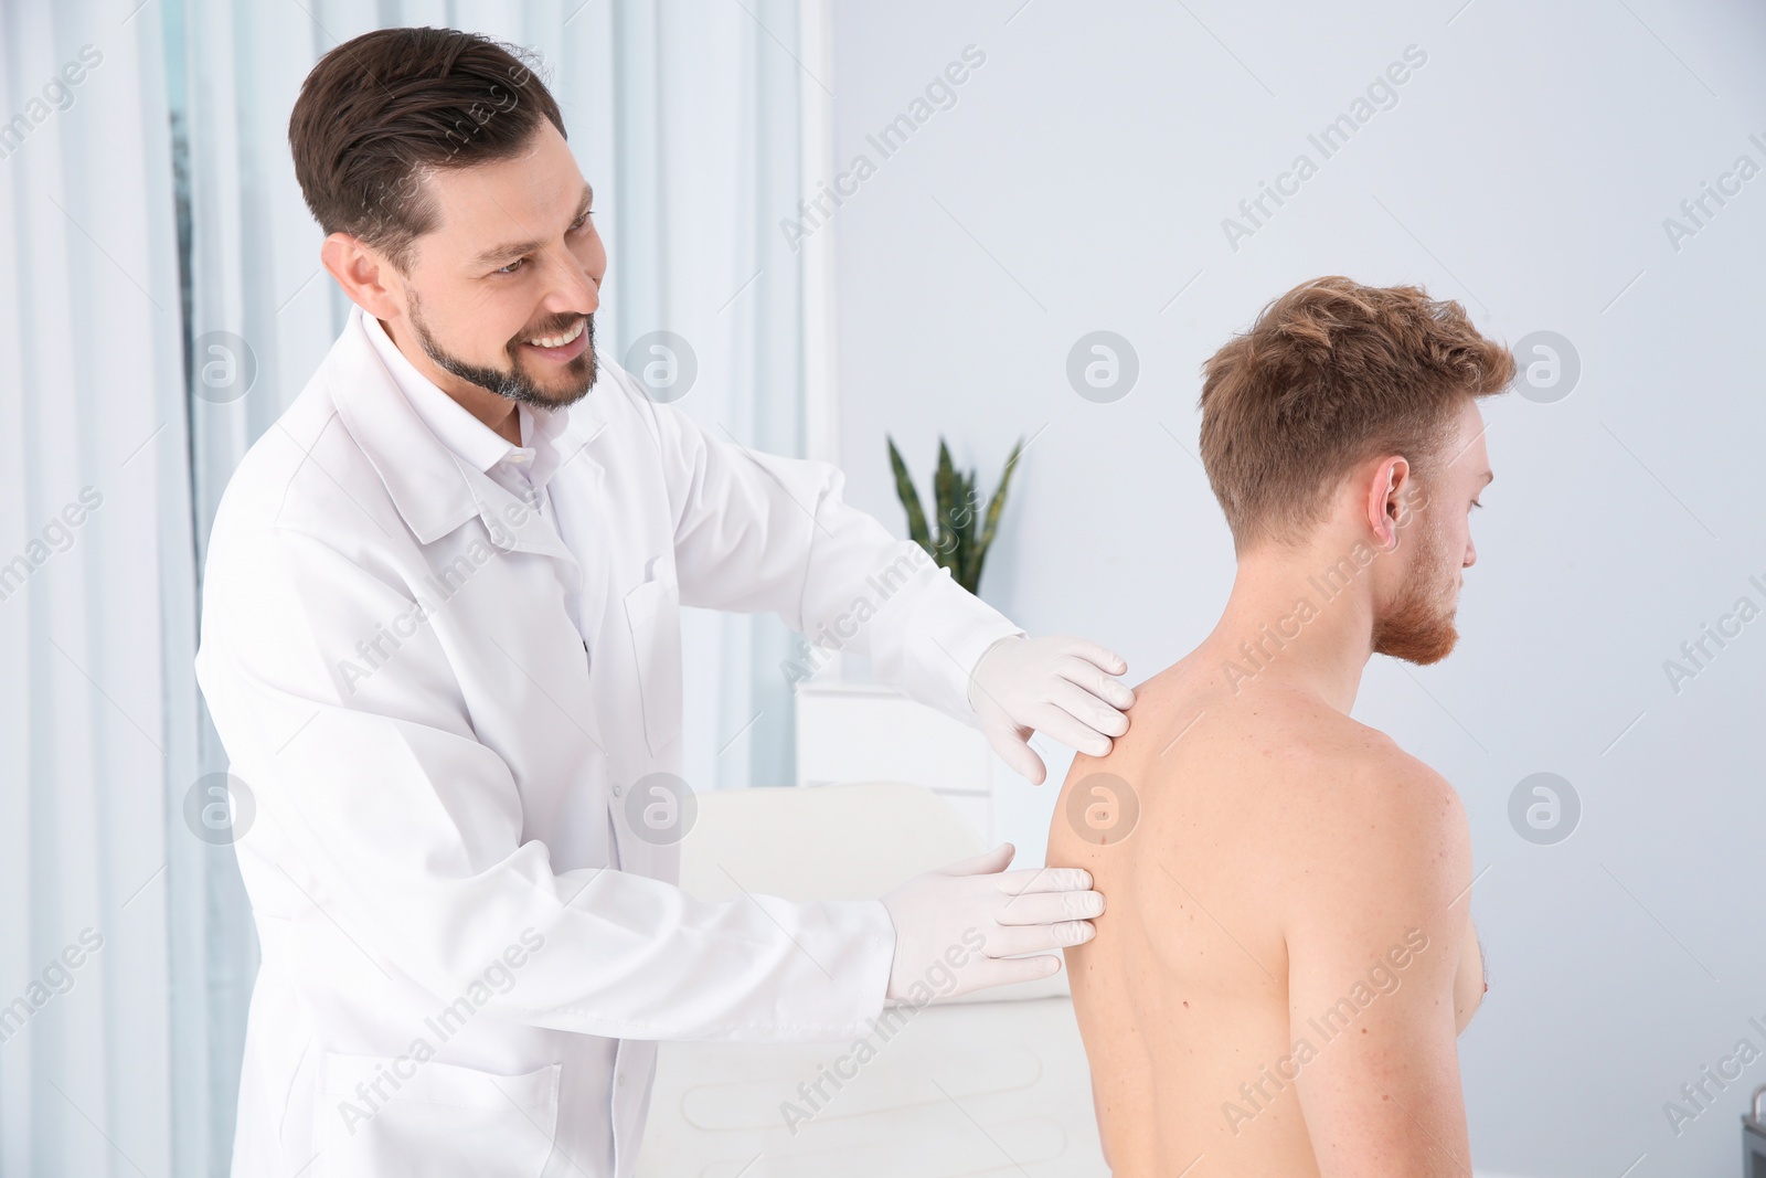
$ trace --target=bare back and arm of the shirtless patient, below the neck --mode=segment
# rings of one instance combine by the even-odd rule
[[[1113,1173],[1469,1169],[1453,1037],[1483,984],[1457,795],[1316,698],[1208,671],[1136,687],[1049,832],[1049,864],[1107,904],[1065,952]]]

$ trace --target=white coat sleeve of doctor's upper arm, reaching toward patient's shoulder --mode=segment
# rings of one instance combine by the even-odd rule
[[[869,655],[878,682],[977,726],[975,662],[1023,629],[924,547],[849,507],[834,464],[752,450],[643,401],[675,516],[682,604],[775,613],[818,646]]]

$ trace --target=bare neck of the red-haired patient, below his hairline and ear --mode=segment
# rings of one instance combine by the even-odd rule
[[[1374,650],[1379,560],[1360,567],[1344,562],[1347,551],[1349,544],[1326,540],[1240,555],[1226,611],[1192,657],[1219,668],[1236,694],[1280,683],[1347,715]]]

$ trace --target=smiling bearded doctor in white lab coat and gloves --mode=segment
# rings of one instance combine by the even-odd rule
[[[1026,638],[832,466],[599,359],[592,193],[502,46],[341,44],[290,143],[355,307],[207,563],[196,669],[256,802],[263,947],[233,1174],[623,1178],[657,1040],[848,1040],[938,961],[959,991],[1060,968],[1102,897],[1005,871],[1010,844],[881,901],[675,887],[643,811],[680,770],[678,609],[816,632],[894,585],[851,648],[1037,782],[1031,729],[1093,754],[1127,729],[1121,659]]]

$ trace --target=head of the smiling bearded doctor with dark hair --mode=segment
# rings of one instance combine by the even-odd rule
[[[419,373],[512,442],[517,401],[588,394],[608,253],[521,49],[364,34],[307,76],[288,138],[325,268]]]

